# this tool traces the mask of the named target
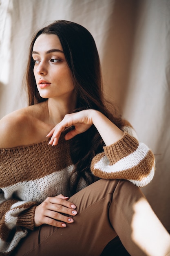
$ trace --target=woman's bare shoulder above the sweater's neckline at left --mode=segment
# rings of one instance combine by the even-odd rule
[[[0,148],[38,143],[46,138],[42,104],[16,110],[0,120]]]

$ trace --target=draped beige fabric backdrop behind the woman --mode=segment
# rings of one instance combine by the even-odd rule
[[[106,97],[156,155],[155,177],[142,190],[170,229],[170,0],[0,0],[0,118],[27,105],[31,37],[58,19],[94,36]]]

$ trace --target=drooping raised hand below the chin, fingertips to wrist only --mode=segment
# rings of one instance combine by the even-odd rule
[[[94,111],[95,110],[88,109],[65,115],[64,119],[47,135],[47,137],[51,137],[49,144],[53,146],[57,145],[61,133],[71,126],[74,126],[74,129],[65,135],[66,140],[72,139],[77,134],[88,130],[93,124],[92,113]]]

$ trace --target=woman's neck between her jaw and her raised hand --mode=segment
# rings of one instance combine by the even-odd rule
[[[75,93],[69,99],[54,99],[50,98],[47,100],[47,106],[49,111],[49,123],[56,125],[64,116],[72,112],[76,108],[76,96]]]

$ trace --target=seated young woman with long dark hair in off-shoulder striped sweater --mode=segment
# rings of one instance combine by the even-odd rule
[[[64,20],[38,31],[26,83],[29,107],[0,121],[0,255],[97,256],[116,236],[132,256],[170,255],[139,189],[154,155],[106,108],[91,34]]]

